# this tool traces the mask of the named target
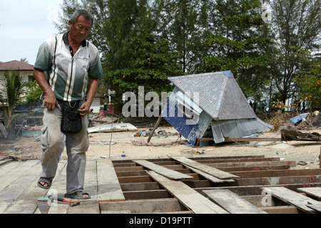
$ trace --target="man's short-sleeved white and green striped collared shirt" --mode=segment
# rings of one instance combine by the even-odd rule
[[[49,38],[41,44],[34,68],[45,71],[49,86],[58,100],[86,99],[89,78],[103,77],[98,49],[84,40],[72,53],[68,33]]]

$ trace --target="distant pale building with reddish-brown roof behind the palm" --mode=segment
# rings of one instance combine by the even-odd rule
[[[16,71],[22,77],[23,81],[31,81],[34,79],[34,65],[24,63],[21,61],[9,61],[0,63],[0,79],[4,76],[6,71]]]

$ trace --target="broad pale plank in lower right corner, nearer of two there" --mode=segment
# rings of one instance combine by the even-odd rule
[[[262,189],[272,196],[277,197],[278,199],[281,199],[289,204],[292,204],[293,206],[308,213],[315,213],[315,210],[307,207],[307,202],[312,202],[312,204],[320,203],[317,200],[289,190],[286,187],[262,187]]]

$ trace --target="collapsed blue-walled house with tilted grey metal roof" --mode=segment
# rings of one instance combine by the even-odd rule
[[[208,130],[220,143],[272,129],[255,115],[230,71],[168,79],[175,88],[161,116],[192,145]]]

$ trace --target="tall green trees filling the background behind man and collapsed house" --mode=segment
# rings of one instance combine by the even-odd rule
[[[320,0],[265,6],[270,11],[260,0],[63,0],[56,27],[66,31],[77,8],[93,14],[88,39],[101,52],[100,89],[168,92],[170,76],[229,70],[248,97],[261,99],[267,88],[282,101],[309,97],[302,78],[319,61]]]

